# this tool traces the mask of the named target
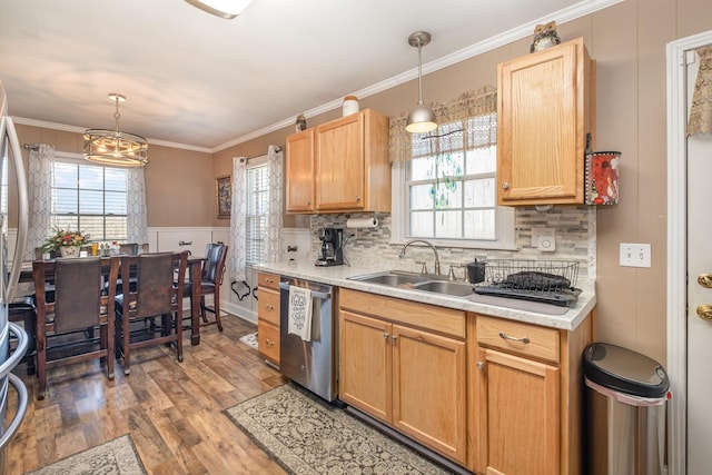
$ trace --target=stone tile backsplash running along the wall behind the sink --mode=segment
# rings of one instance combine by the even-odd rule
[[[389,214],[313,215],[310,217],[312,254],[316,257],[320,241],[318,230],[324,227],[346,228],[349,218],[378,219],[376,228],[349,229],[345,256],[352,264],[392,261],[394,268],[419,270],[415,260],[426,260],[432,271],[433,253],[425,248],[408,248],[408,258],[399,259],[403,244],[389,244]],[[533,228],[553,228],[556,249],[552,253],[532,247]],[[353,236],[352,236],[353,235]],[[350,236],[350,237],[349,237]],[[477,259],[542,259],[572,260],[580,266],[578,276],[595,278],[595,208],[589,206],[556,206],[547,211],[534,207],[516,209],[517,250],[463,249],[438,247],[442,271],[449,265],[472,263]],[[459,274],[458,274],[459,275]]]

